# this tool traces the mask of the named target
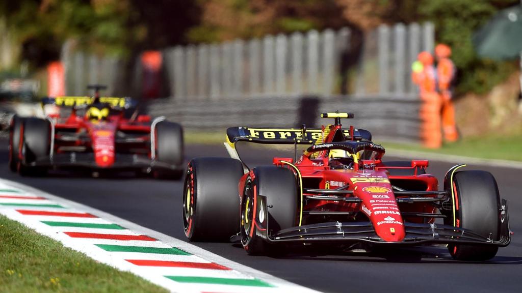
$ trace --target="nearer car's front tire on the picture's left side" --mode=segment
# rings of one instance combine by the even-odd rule
[[[267,201],[266,220],[259,204],[260,196]],[[252,169],[246,178],[241,200],[241,243],[248,254],[274,255],[283,252],[282,247],[271,245],[260,236],[268,235],[269,231],[259,230],[257,223],[267,221],[267,228],[275,232],[295,227],[299,200],[298,186],[291,169],[275,166]]]

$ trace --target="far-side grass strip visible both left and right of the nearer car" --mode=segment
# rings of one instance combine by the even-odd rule
[[[222,145],[225,141],[225,131],[216,132],[185,132],[187,144],[213,144]],[[421,144],[397,143],[375,140],[382,143],[387,150],[404,150],[431,152],[438,154],[460,155],[477,158],[491,158],[500,160],[522,161],[522,133],[505,136],[487,135],[482,137],[469,137],[453,143],[444,143],[440,149],[423,148]]]

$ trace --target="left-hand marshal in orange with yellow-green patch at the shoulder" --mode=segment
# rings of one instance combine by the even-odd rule
[[[421,52],[418,59],[412,66],[411,78],[418,84],[422,100],[421,139],[424,146],[436,149],[442,145],[441,98],[437,93],[436,70],[429,52]]]

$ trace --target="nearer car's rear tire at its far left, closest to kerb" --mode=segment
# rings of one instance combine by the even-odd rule
[[[233,158],[200,157],[187,166],[183,228],[190,241],[230,241],[239,232],[239,180],[243,165]]]

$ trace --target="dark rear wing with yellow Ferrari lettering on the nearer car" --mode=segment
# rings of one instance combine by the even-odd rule
[[[349,129],[343,129],[343,135],[352,139]],[[354,129],[354,140],[372,140],[370,131]],[[227,143],[233,147],[238,141],[266,144],[313,144],[317,140],[323,140],[322,129],[309,128],[302,135],[299,128],[255,128],[255,127],[230,127],[227,129]]]

